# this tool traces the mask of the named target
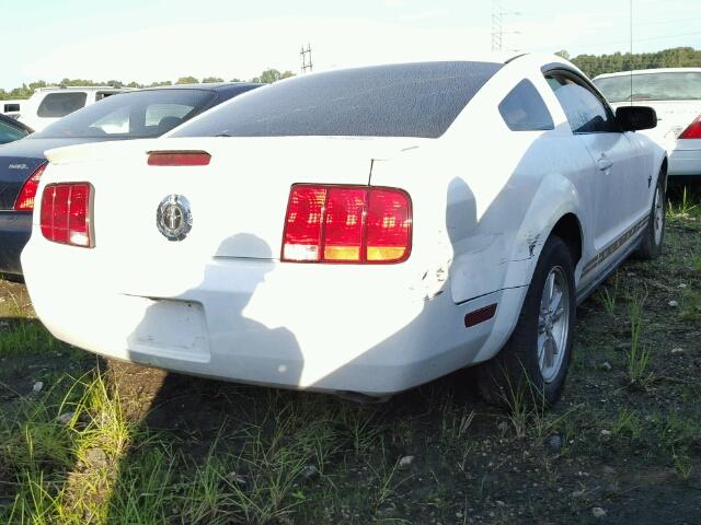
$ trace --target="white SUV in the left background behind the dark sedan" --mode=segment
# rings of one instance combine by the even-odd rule
[[[129,91],[129,88],[117,89],[110,85],[39,88],[28,100],[22,102],[20,119],[34,130],[42,131],[46,126],[66,115],[125,91]]]

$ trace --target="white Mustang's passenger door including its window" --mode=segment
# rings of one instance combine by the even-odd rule
[[[600,254],[620,241],[637,220],[639,203],[644,201],[642,195],[646,190],[639,180],[644,173],[643,153],[637,141],[621,131],[610,107],[588,82],[562,70],[548,72],[545,79],[573,133],[594,162],[594,245]]]

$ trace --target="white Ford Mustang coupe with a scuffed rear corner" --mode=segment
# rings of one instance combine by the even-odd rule
[[[380,397],[480,364],[554,402],[575,305],[659,254],[667,160],[559,57],[302,75],[166,138],[49,151],[22,266],[59,339]]]

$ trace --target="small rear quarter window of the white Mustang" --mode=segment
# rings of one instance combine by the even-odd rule
[[[536,86],[521,80],[499,104],[502,118],[512,131],[553,129],[552,117]]]

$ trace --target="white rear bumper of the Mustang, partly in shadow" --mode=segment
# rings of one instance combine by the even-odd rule
[[[510,335],[526,293],[456,305],[449,292],[418,298],[411,283],[372,277],[389,267],[215,258],[181,293],[129,294],[116,272],[61,262],[77,249],[64,248],[30,243],[22,256],[34,307],[59,339],[166,370],[320,392],[381,396],[486,360]],[[59,276],[42,265],[47,252]],[[467,313],[495,303],[492,319],[466,328]]]

